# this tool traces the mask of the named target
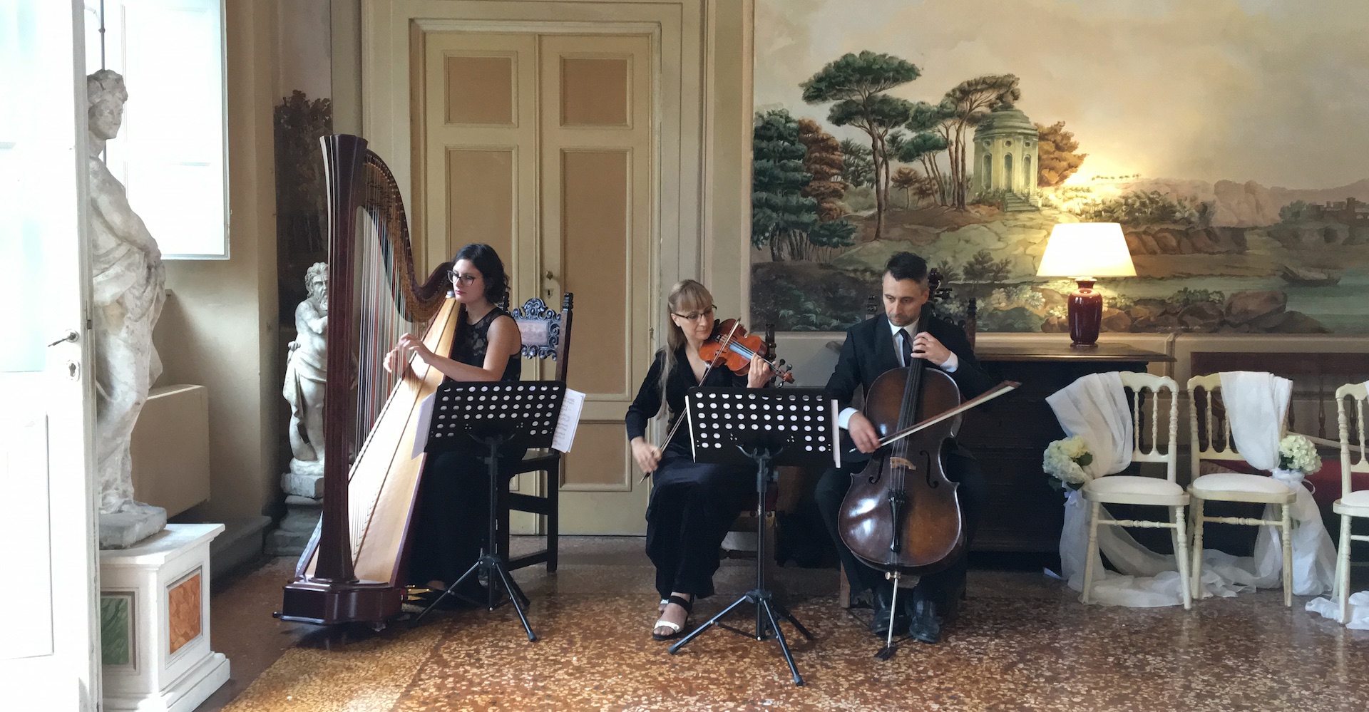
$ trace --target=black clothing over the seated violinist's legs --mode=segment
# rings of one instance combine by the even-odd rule
[[[646,556],[656,564],[656,590],[695,598],[713,594],[723,537],[756,492],[756,474],[745,467],[702,464],[669,457],[652,475],[646,507]]]

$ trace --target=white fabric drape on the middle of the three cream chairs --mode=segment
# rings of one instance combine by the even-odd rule
[[[1272,374],[1228,371],[1221,374],[1221,398],[1227,405],[1231,440],[1247,463],[1259,470],[1279,467],[1279,441],[1292,381]],[[1197,444],[1194,444],[1197,446]],[[1336,548],[1321,522],[1321,512],[1302,478],[1277,476],[1298,493],[1290,509],[1292,533],[1292,592],[1317,596],[1331,590],[1336,570]],[[1277,505],[1265,507],[1264,519],[1279,519]],[[1203,589],[1207,594],[1235,596],[1249,589],[1279,586],[1283,574],[1283,542],[1279,529],[1259,527],[1254,556],[1232,556],[1203,549]],[[1216,572],[1221,581],[1207,575]]]

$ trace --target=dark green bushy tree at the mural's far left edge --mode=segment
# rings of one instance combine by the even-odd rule
[[[801,234],[817,225],[817,201],[804,189],[813,178],[804,170],[798,122],[784,110],[756,115],[752,129],[752,245],[769,246],[780,262]],[[789,248],[789,249],[786,249]]]

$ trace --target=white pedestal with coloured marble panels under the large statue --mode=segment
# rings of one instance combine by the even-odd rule
[[[104,709],[190,712],[229,681],[209,649],[209,542],[223,524],[167,524],[100,552]]]

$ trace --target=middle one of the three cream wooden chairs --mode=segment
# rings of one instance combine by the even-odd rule
[[[1194,530],[1192,567],[1190,568],[1188,579],[1192,586],[1192,596],[1195,598],[1202,597],[1202,530],[1205,522],[1246,526],[1270,524],[1279,527],[1283,544],[1284,605],[1291,607],[1292,520],[1290,508],[1296,494],[1284,486],[1283,482],[1268,475],[1249,472],[1201,474],[1201,464],[1205,460],[1217,460],[1217,464],[1221,464],[1223,460],[1236,461],[1238,467],[1249,467],[1246,457],[1236,450],[1231,440],[1231,419],[1225,418],[1224,412],[1218,412],[1217,405],[1221,403],[1218,398],[1220,393],[1221,374],[1195,375],[1188,379],[1188,435],[1192,452],[1192,482],[1188,485],[1191,505],[1188,509]],[[1207,516],[1203,513],[1205,501],[1276,504],[1281,516],[1277,520],[1244,516]]]

